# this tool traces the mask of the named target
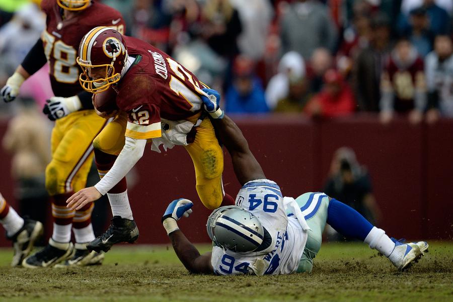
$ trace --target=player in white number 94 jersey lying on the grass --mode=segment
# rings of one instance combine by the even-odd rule
[[[218,100],[218,94],[216,97]],[[204,102],[207,109],[214,107],[209,106],[209,100]],[[378,250],[400,270],[427,250],[426,242],[403,244],[389,238],[356,210],[324,193],[305,193],[295,200],[283,197],[278,185],[264,176],[238,126],[228,116],[214,119],[213,124],[243,187],[236,197],[236,206],[220,207],[209,216],[206,227],[214,247],[204,255],[187,240],[176,222],[190,214],[192,202],[178,199],[168,206],[163,225],[178,258],[190,272],[310,272],[321,248],[326,222],[337,232]]]

